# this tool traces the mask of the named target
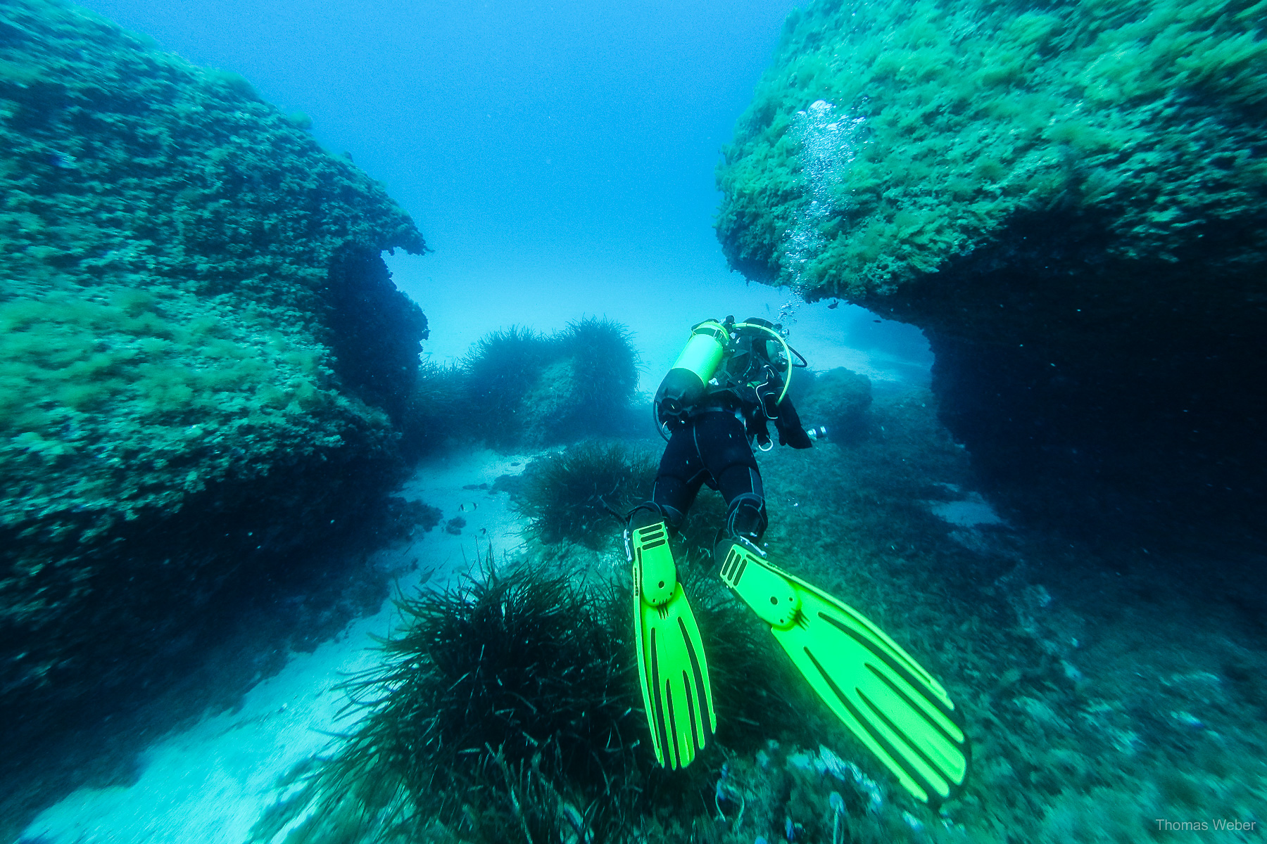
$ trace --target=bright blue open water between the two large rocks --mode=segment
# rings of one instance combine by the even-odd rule
[[[84,5],[242,73],[386,185],[435,249],[389,266],[437,362],[503,325],[607,315],[634,329],[654,390],[689,325],[789,300],[727,270],[712,215],[720,151],[794,3]],[[926,381],[916,329],[827,302],[796,319],[816,368]]]

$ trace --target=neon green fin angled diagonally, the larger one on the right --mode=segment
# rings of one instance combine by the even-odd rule
[[[813,691],[917,800],[936,807],[968,773],[962,714],[936,680],[849,605],[764,559],[726,552],[721,577],[770,625]]]

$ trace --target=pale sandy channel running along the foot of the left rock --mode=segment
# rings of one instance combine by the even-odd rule
[[[376,552],[386,571],[404,572],[403,593],[442,588],[470,572],[492,544],[495,554],[519,545],[519,521],[508,497],[490,487],[522,471],[527,458],[473,450],[418,466],[399,492],[443,514],[441,525]],[[480,488],[480,486],[483,488]],[[461,518],[461,533],[445,529]],[[277,800],[277,782],[326,749],[332,734],[355,725],[341,717],[347,697],[340,683],[378,659],[372,635],[385,636],[398,616],[390,601],[357,619],[312,653],[295,653],[232,710],[167,734],[138,760],[131,786],[80,788],[46,809],[18,839],[34,844],[193,843],[239,844]]]

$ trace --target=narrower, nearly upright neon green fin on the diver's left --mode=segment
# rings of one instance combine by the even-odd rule
[[[678,582],[663,521],[625,534],[634,563],[634,624],[655,758],[685,768],[717,730],[708,661]]]

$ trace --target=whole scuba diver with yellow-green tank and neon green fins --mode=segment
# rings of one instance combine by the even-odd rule
[[[793,362],[793,357],[796,362]],[[639,677],[656,760],[685,767],[717,729],[708,661],[678,582],[669,531],[702,485],[726,499],[713,562],[846,728],[917,800],[936,807],[963,785],[969,748],[941,685],[859,612],[775,567],[760,547],[768,519],[753,445],[813,443],[788,397],[806,361],[761,319],[692,328],[653,410],[668,440],[651,499],[627,516]]]

